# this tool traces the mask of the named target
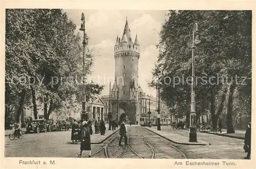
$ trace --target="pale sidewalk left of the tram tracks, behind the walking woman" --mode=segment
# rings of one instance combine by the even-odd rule
[[[105,141],[106,139],[108,139],[110,136],[112,136],[113,134],[117,133],[117,131],[119,131],[120,128],[116,128],[116,130],[112,131],[109,130],[109,124],[106,124],[106,132],[105,135],[100,135],[100,133],[95,134],[95,129],[93,126],[93,134],[91,135],[91,144],[100,144],[103,141]],[[80,144],[80,142],[72,142],[72,141],[68,141],[69,144]]]

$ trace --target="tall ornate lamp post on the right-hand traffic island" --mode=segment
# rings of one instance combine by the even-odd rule
[[[189,122],[189,142],[197,142],[197,125],[196,125],[196,101],[195,101],[195,44],[200,43],[198,35],[195,39],[195,33],[198,31],[198,24],[195,23],[193,27],[193,42],[192,42],[192,83],[191,83],[191,103],[190,103],[190,122]]]

